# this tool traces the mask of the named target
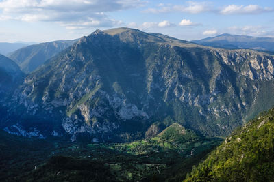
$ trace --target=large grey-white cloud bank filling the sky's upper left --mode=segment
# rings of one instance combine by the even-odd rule
[[[114,12],[145,4],[142,0],[3,0],[0,20],[26,22],[58,22],[67,29],[113,27],[121,24],[106,12]]]

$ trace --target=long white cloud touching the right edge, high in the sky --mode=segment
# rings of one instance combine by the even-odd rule
[[[228,5],[224,7],[221,14],[261,14],[265,12],[272,12],[270,7],[260,7],[258,5]]]

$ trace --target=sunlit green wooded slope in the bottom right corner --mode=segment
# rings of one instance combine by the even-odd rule
[[[236,130],[184,181],[273,181],[274,108]]]

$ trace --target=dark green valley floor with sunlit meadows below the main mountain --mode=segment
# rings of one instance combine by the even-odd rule
[[[182,181],[221,141],[155,136],[130,143],[83,144],[0,132],[0,181]]]

